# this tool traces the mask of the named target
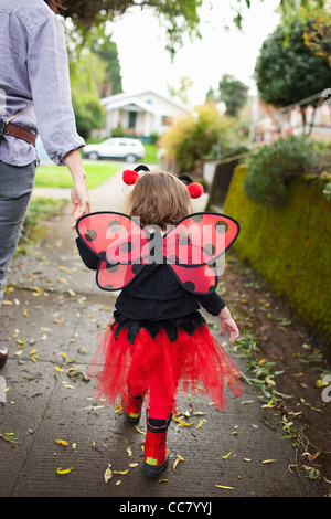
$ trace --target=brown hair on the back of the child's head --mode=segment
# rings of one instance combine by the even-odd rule
[[[190,214],[186,186],[168,172],[143,172],[129,194],[128,212],[140,225],[166,229]]]

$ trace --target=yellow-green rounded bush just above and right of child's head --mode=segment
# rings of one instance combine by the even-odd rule
[[[222,133],[233,125],[231,118],[220,115],[214,104],[197,106],[193,114],[182,117],[160,139],[160,147],[173,160],[180,173],[194,172],[201,161],[210,157],[218,137],[222,150],[227,140]]]

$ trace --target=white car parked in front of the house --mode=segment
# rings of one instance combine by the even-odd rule
[[[92,159],[122,159],[135,162],[145,157],[145,148],[140,140],[113,137],[96,145],[87,145],[83,148],[83,156]]]

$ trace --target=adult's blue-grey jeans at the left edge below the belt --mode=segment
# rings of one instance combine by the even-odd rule
[[[0,306],[11,257],[20,240],[34,184],[35,162],[10,166],[0,160]]]

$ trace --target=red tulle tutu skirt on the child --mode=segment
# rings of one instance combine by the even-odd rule
[[[242,394],[241,372],[205,324],[192,336],[179,328],[173,342],[163,328],[154,339],[140,328],[132,343],[127,340],[126,328],[115,338],[116,328],[111,320],[87,371],[97,380],[94,395],[98,400],[116,403],[128,383],[135,395],[146,395],[157,384],[160,399],[168,398],[174,412],[178,391],[209,394],[222,411],[226,407],[225,383],[234,396]]]

